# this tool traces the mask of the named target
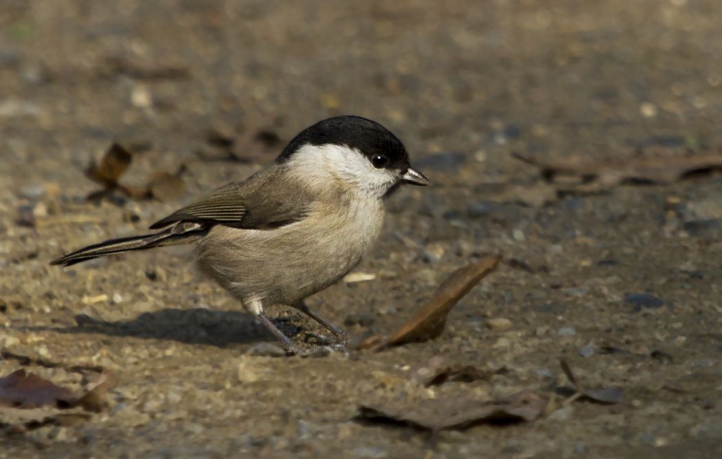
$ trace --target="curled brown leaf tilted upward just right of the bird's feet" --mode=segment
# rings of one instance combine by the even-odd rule
[[[475,285],[490,274],[501,261],[500,255],[483,258],[463,268],[458,268],[436,289],[431,299],[418,310],[412,318],[406,320],[388,338],[371,336],[359,345],[360,349],[380,350],[388,346],[428,341],[437,338],[446,325],[446,317],[451,309]]]

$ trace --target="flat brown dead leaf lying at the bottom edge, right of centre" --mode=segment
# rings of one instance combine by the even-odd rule
[[[417,429],[438,432],[466,429],[474,424],[534,421],[544,414],[551,398],[533,390],[522,390],[499,401],[478,401],[473,395],[433,398],[408,406],[401,402],[362,405],[356,419],[367,422],[393,421]]]

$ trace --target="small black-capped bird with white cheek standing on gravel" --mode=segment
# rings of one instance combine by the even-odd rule
[[[90,245],[51,264],[195,245],[201,271],[293,354],[300,350],[264,307],[295,307],[345,341],[345,333],[304,300],[361,261],[380,232],[384,196],[401,183],[429,180],[411,167],[396,136],[360,116],[329,118],[301,131],[266,169],[155,222],[150,229],[157,232]]]

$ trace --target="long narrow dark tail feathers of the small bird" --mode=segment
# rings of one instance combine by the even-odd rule
[[[178,234],[173,230],[173,227],[171,227],[152,235],[119,237],[118,239],[110,239],[98,244],[88,245],[85,248],[63,255],[61,258],[51,261],[50,264],[70,266],[75,263],[81,263],[82,261],[92,260],[93,258],[112,255],[114,253],[123,253],[129,250],[145,250],[161,247],[162,245],[183,244],[191,242],[198,236],[196,232],[183,232]]]

